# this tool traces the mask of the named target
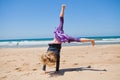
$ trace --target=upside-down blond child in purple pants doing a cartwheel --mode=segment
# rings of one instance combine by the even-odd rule
[[[92,39],[86,38],[73,38],[64,33],[63,24],[64,24],[64,10],[66,5],[63,4],[60,12],[60,24],[57,29],[54,31],[54,40],[52,43],[48,44],[47,53],[41,56],[43,62],[43,72],[46,73],[46,65],[53,66],[56,64],[56,72],[59,71],[60,66],[60,50],[61,44],[64,42],[91,42],[92,46],[95,45],[95,41]]]

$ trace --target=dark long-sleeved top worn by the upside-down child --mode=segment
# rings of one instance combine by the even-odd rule
[[[59,66],[60,66],[60,50],[61,50],[61,44],[49,44],[49,48],[47,51],[53,51],[55,52],[57,56],[57,61],[56,61],[56,71],[59,71]],[[46,71],[46,65],[43,65],[43,70]]]

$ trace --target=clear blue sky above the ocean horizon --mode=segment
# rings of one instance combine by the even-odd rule
[[[0,0],[0,39],[52,38],[62,4],[66,34],[120,36],[120,0]]]

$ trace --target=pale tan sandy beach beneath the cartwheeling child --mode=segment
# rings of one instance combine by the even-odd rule
[[[47,47],[1,48],[0,80],[120,80],[120,44],[66,46],[61,50],[59,73],[40,56]]]

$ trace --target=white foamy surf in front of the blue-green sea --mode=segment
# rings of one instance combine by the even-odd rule
[[[52,40],[47,41],[4,41],[0,42],[0,48],[3,47],[36,47],[36,46],[47,46],[48,43],[51,43]],[[120,44],[120,38],[110,38],[110,39],[101,39],[96,40],[96,44]],[[88,43],[82,43],[82,42],[71,42],[70,44],[65,43],[63,45],[84,45],[84,44],[90,44]]]

